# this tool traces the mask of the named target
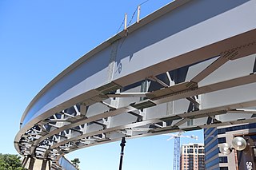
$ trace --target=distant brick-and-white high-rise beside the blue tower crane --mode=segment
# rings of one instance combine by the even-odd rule
[[[205,153],[204,144],[182,144],[181,170],[204,170]]]

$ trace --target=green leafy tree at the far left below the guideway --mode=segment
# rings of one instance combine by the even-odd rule
[[[0,153],[0,170],[23,170],[21,156]]]

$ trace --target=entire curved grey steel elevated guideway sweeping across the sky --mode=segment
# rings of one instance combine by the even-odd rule
[[[52,168],[66,153],[256,121],[256,0],[177,0],[114,35],[34,97],[14,140]]]

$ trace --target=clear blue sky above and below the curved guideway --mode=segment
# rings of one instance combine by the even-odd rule
[[[68,65],[117,33],[144,0],[0,0],[0,152],[17,154],[14,136],[26,106]],[[142,17],[170,0],[149,0]],[[134,21],[133,21],[134,22]],[[202,131],[187,132],[198,135]],[[172,169],[174,140],[150,136],[127,140],[123,170]],[[196,142],[182,139],[182,143]],[[67,157],[82,170],[118,169],[119,142],[81,149]]]

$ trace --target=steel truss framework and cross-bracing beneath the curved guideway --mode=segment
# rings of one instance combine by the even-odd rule
[[[230,55],[233,54],[230,53]],[[205,69],[194,75],[190,81],[176,84],[174,77],[170,76],[177,71],[174,70],[148,77],[145,81],[138,81],[134,85],[126,87],[111,82],[94,89],[97,96],[55,113],[30,128],[18,142],[20,152],[25,156],[50,159],[57,167],[58,159],[66,153],[78,148],[120,140],[124,136],[129,139],[166,132],[255,122],[256,97],[243,102],[230,98],[230,101],[233,100],[234,103],[217,107],[204,105],[202,102],[205,95],[215,92],[229,93],[230,90],[236,92],[246,90],[251,93],[256,90],[256,74],[253,72],[255,62],[254,65],[251,65],[251,72],[246,73],[243,77],[200,85],[200,82],[225,65],[226,62],[232,64],[231,59],[234,57],[226,56],[228,55],[225,53],[210,59],[212,61],[210,65],[208,64],[210,61],[204,61]],[[255,61],[255,55],[235,58],[235,60],[238,62]],[[202,64],[188,65],[186,68],[190,70]],[[218,77],[222,77],[222,75],[218,75]],[[141,92],[143,85],[146,86],[146,92]],[[115,89],[105,88],[109,86],[115,87]],[[127,90],[122,92],[122,89]],[[221,96],[220,93],[219,95]],[[239,97],[236,94],[234,96]],[[123,100],[122,106],[120,106],[121,99]],[[208,100],[208,104],[214,104],[217,102],[214,100],[221,99],[219,97],[210,99],[209,97]],[[174,109],[172,111],[167,109],[168,105],[174,107],[176,103],[182,107],[187,106],[187,111],[173,113]],[[150,113],[150,109],[158,107],[165,113]],[[164,107],[166,109],[163,109]],[[95,108],[100,108],[97,113],[95,113]],[[128,120],[121,123],[114,122],[118,117]],[[119,121],[120,119],[118,118]]]

